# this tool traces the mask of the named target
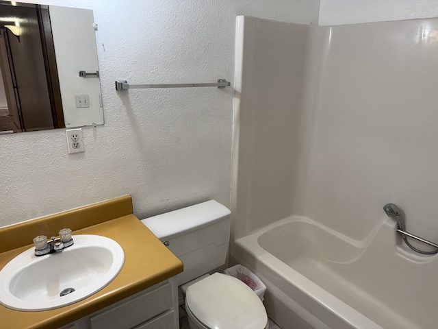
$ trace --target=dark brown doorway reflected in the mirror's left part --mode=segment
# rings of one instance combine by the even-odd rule
[[[0,133],[65,127],[47,6],[0,5],[0,77]]]

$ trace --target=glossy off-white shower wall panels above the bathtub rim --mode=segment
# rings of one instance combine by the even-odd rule
[[[394,202],[437,241],[438,20],[241,20],[235,236],[304,215],[361,239]]]

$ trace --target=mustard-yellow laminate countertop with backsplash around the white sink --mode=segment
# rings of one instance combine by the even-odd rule
[[[96,234],[117,241],[125,252],[120,273],[94,295],[54,310],[25,312],[0,305],[1,329],[59,328],[183,271],[181,261],[133,215],[129,195],[0,228],[0,269],[33,247],[28,242],[34,236],[57,235],[62,228],[71,228],[73,235]],[[23,241],[27,244],[17,247]],[[8,243],[14,249],[8,249]]]

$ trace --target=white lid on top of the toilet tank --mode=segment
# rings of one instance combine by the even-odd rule
[[[174,236],[198,230],[216,221],[229,218],[231,211],[215,200],[202,202],[186,208],[166,212],[162,215],[142,219],[142,223],[158,239],[170,239]]]

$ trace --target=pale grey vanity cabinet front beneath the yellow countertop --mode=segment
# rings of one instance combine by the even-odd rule
[[[178,287],[170,278],[60,329],[177,329]]]

